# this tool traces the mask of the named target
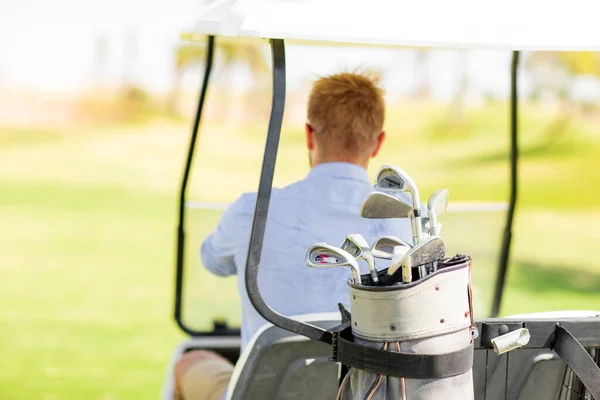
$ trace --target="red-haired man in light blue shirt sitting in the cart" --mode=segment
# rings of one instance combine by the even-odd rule
[[[263,298],[284,315],[337,311],[338,303],[349,306],[346,269],[314,270],[304,264],[312,244],[340,246],[350,233],[362,234],[369,243],[382,235],[412,241],[409,220],[371,220],[359,212],[373,191],[367,166],[385,139],[385,102],[378,81],[358,73],[321,78],[312,87],[307,114],[311,170],[299,182],[273,188],[259,270]],[[244,281],[255,202],[256,193],[246,193],[231,204],[201,249],[209,271],[237,274],[242,351],[266,323],[252,307]],[[232,370],[217,354],[190,352],[175,368],[179,395],[185,400],[220,399]]]

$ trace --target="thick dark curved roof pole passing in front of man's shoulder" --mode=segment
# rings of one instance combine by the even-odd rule
[[[258,287],[258,268],[265,237],[275,162],[277,160],[277,148],[279,147],[279,136],[281,134],[283,111],[285,108],[286,77],[285,44],[283,39],[271,39],[271,53],[273,57],[273,104],[269,119],[269,130],[267,132],[267,143],[265,145],[258,194],[256,196],[256,206],[254,208],[248,257],[246,259],[246,291],[256,311],[267,321],[273,323],[273,325],[311,339],[331,343],[331,333],[319,327],[285,317],[269,307],[260,295]]]

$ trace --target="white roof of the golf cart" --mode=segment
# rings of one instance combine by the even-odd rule
[[[591,0],[213,0],[182,37],[504,50],[600,50]]]

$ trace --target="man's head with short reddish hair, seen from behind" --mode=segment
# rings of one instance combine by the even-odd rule
[[[378,80],[340,73],[317,80],[308,100],[306,140],[312,166],[351,162],[367,167],[385,138],[385,102]]]

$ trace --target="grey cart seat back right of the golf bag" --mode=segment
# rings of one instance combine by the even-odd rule
[[[598,315],[598,311],[572,310],[509,315],[506,318],[555,318],[558,321]],[[500,356],[493,350],[476,350],[473,364],[475,400],[556,400],[566,368],[560,357],[549,349],[517,349]],[[507,395],[505,388],[508,388]]]

